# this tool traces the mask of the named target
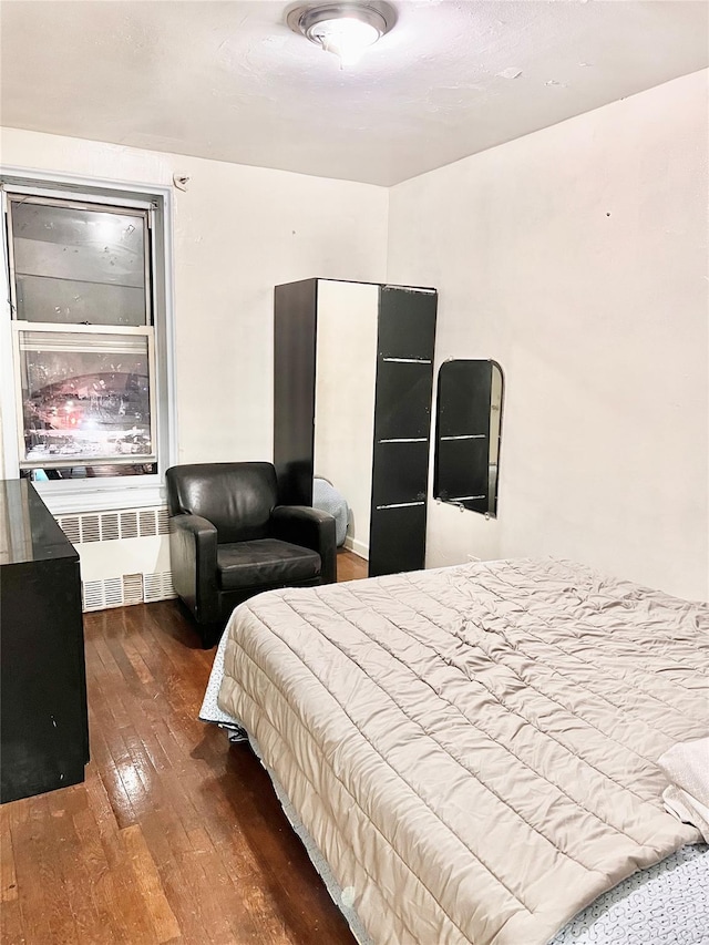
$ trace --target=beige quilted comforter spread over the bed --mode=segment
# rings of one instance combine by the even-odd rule
[[[709,606],[561,562],[259,595],[223,709],[378,945],[535,945],[698,832],[656,761],[709,733]]]

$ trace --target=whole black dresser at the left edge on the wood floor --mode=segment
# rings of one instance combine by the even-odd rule
[[[0,802],[84,780],[79,555],[25,480],[0,480]]]

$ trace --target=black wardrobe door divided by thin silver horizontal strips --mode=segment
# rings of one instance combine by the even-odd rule
[[[436,294],[379,295],[369,574],[425,564]]]

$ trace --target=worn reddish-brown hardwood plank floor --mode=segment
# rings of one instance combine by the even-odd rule
[[[3,945],[351,945],[250,749],[197,720],[214,650],[178,604],[84,625],[92,760],[0,807]]]

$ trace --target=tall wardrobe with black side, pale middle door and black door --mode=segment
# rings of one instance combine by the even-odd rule
[[[274,462],[281,501],[314,474],[350,507],[369,574],[424,566],[434,289],[306,279],[276,287]]]

